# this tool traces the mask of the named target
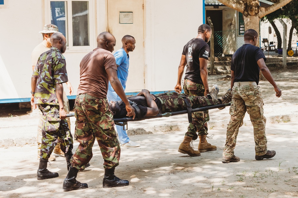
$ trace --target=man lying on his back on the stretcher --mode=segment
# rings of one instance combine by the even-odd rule
[[[128,100],[134,103],[132,107],[135,109],[136,118],[139,119],[155,116],[159,113],[187,110],[187,103],[185,100],[187,100],[193,109],[231,102],[231,89],[220,98],[217,98],[217,94],[217,85],[213,85],[212,90],[207,96],[186,96],[176,92],[153,95],[150,94],[148,90],[143,89],[136,96],[128,97]],[[109,105],[114,114],[114,118],[128,118],[125,104],[122,101],[111,101],[109,102]],[[137,108],[139,108],[139,110]],[[224,107],[219,109],[224,109]]]

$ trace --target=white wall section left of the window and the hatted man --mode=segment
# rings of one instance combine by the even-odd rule
[[[42,41],[41,15],[41,1],[5,0],[0,5],[0,99],[30,97],[30,57]]]

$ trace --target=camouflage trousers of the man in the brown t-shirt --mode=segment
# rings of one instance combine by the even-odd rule
[[[92,158],[92,147],[97,140],[104,159],[104,168],[119,165],[120,144],[114,129],[114,120],[108,108],[107,99],[88,94],[77,95],[75,99],[75,140],[80,142],[72,159],[72,167],[84,170]]]

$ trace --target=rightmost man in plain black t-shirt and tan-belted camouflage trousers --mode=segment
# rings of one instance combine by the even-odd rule
[[[258,86],[260,70],[264,77],[273,85],[276,96],[281,91],[273,80],[267,68],[264,53],[257,47],[258,33],[253,29],[244,32],[244,45],[232,56],[231,88],[232,104],[230,107],[231,119],[226,132],[226,145],[223,151],[223,163],[240,161],[234,155],[236,138],[239,127],[243,125],[243,118],[247,111],[254,126],[255,159],[269,159],[275,156],[275,151],[267,150],[265,134],[266,118],[263,115],[263,99]]]

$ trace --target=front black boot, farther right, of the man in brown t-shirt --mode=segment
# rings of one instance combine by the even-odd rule
[[[103,188],[112,188],[120,186],[128,186],[128,180],[119,179],[114,175],[115,168],[105,168],[105,177],[103,178]]]

